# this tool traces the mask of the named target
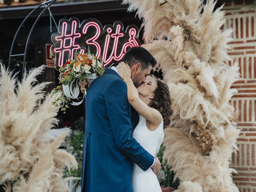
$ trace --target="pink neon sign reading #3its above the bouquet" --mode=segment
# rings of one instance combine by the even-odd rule
[[[66,62],[68,55],[73,59],[75,50],[84,53],[87,52],[88,46],[97,57],[102,56],[104,67],[122,60],[128,48],[140,46],[140,41],[136,38],[138,28],[130,25],[124,31],[120,21],[103,28],[96,19],[87,19],[80,24],[79,20],[73,17],[60,20],[59,29],[60,33],[52,35],[57,69]]]

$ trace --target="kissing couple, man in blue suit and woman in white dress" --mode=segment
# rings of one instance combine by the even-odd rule
[[[82,192],[161,192],[156,157],[170,124],[168,86],[146,81],[155,58],[130,48],[118,66],[106,68],[86,94]],[[89,86],[89,84],[88,84]]]

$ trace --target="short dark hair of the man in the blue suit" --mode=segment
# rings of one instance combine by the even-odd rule
[[[132,47],[125,54],[122,60],[127,63],[130,68],[136,63],[141,64],[141,70],[148,68],[149,66],[156,66],[156,59],[143,47]]]

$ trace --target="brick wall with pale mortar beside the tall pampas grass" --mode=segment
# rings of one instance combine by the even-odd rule
[[[239,151],[232,154],[230,166],[238,171],[233,180],[240,192],[256,192],[256,2],[225,2],[224,28],[233,29],[229,55],[238,62],[241,80],[233,84],[238,95],[231,100],[238,114]]]

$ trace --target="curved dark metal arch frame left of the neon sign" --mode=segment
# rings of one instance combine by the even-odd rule
[[[10,65],[11,65],[11,58],[12,57],[16,57],[16,56],[23,56],[23,65],[22,65],[22,74],[21,74],[21,80],[23,79],[23,74],[24,74],[24,69],[25,69],[25,62],[26,62],[26,55],[27,55],[27,51],[28,51],[28,44],[30,42],[30,38],[32,35],[32,32],[34,31],[34,28],[38,22],[38,20],[41,18],[42,14],[44,14],[45,10],[48,9],[51,4],[53,4],[54,2],[56,2],[56,0],[46,0],[45,2],[41,3],[40,5],[38,5],[36,8],[34,8],[27,16],[26,18],[22,21],[22,23],[20,24],[18,30],[16,31],[16,34],[14,35],[13,41],[12,41],[12,46],[10,49],[10,54],[9,54],[9,63],[8,63],[8,70],[10,69]],[[16,41],[16,38],[18,36],[18,33],[20,32],[20,29],[22,28],[23,24],[26,22],[26,20],[30,17],[30,15],[37,10],[38,8],[40,8],[42,5],[45,5],[46,7],[42,10],[42,12],[38,15],[38,17],[36,18],[29,34],[28,34],[28,38],[27,38],[27,42],[26,42],[26,46],[25,46],[25,50],[23,54],[12,54],[13,51],[13,46],[14,46],[14,42]]]

